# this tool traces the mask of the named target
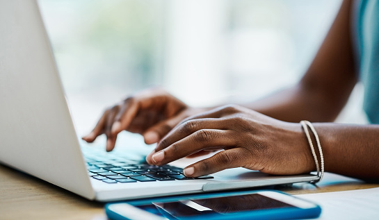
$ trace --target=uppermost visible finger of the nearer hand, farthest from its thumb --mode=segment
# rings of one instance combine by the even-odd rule
[[[156,151],[161,151],[166,149],[166,147],[174,144],[180,139],[184,139],[188,135],[191,135],[198,130],[202,129],[218,129],[218,130],[227,130],[227,126],[229,126],[228,121],[225,119],[191,119],[177,128],[171,130],[166,137],[163,137],[161,142],[159,142],[156,146]]]

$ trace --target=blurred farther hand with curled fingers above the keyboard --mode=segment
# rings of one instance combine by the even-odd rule
[[[202,109],[191,108],[164,90],[144,90],[107,108],[91,133],[82,139],[93,142],[105,134],[106,151],[112,151],[118,133],[128,130],[143,135],[146,144],[154,144],[180,121],[198,112]]]

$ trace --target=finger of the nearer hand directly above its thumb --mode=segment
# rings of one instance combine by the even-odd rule
[[[154,153],[151,158],[152,164],[167,164],[174,160],[184,158],[188,155],[203,149],[213,149],[214,147],[235,146],[232,130],[204,129],[175,142],[162,151]]]

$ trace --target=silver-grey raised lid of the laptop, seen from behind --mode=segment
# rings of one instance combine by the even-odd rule
[[[94,198],[34,0],[0,0],[0,162]]]

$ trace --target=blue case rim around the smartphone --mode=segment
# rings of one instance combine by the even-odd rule
[[[187,199],[202,199],[202,198],[213,198],[213,197],[225,197],[225,196],[237,196],[243,194],[252,194],[256,192],[262,191],[273,191],[279,192],[281,194],[285,194],[284,192],[280,192],[277,190],[251,190],[251,191],[243,191],[243,192],[223,192],[223,193],[207,193],[207,194],[195,194],[195,195],[184,195],[184,196],[170,196],[164,198],[149,198],[149,199],[138,199],[132,201],[125,201],[119,203],[128,203],[129,205],[144,205],[149,204],[154,201],[154,203],[164,203],[170,201],[178,201],[178,200],[187,200]],[[288,194],[287,194],[288,195]],[[289,195],[291,196],[291,195]],[[108,203],[105,206],[106,215],[109,219],[114,220],[125,220],[126,217],[113,212],[108,207],[115,203]],[[305,218],[316,218],[321,214],[320,206],[314,204],[314,208],[273,208],[268,210],[252,210],[252,211],[241,211],[241,212],[232,212],[225,215],[213,215],[207,214],[198,215],[195,217],[181,217],[180,219],[185,220],[197,220],[204,219],[206,217],[208,220],[211,219],[305,219]]]

